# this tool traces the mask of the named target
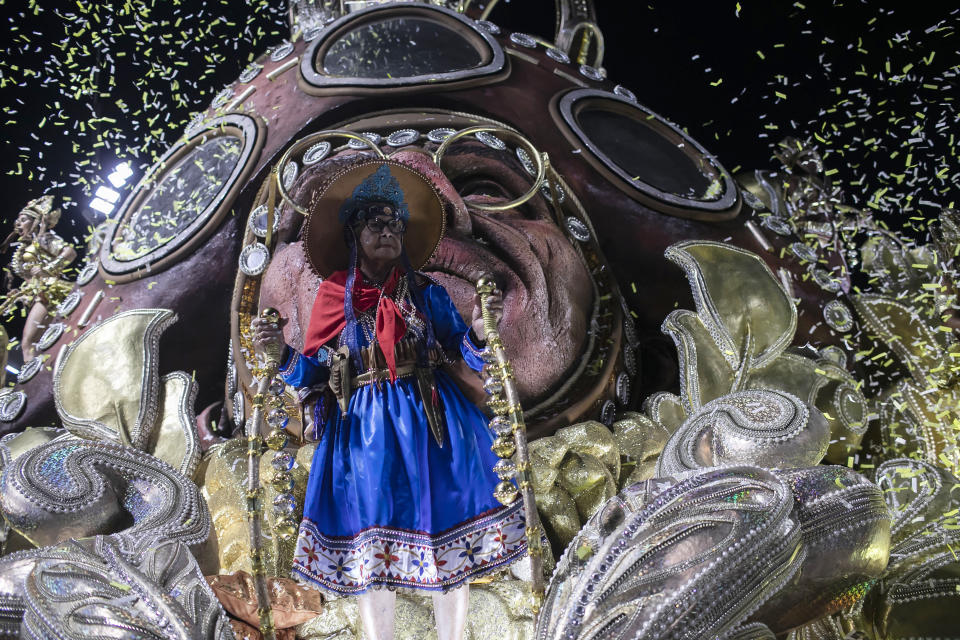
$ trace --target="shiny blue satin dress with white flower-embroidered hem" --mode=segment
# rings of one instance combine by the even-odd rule
[[[430,284],[423,293],[437,342],[479,371],[479,351],[446,290]],[[308,387],[329,370],[293,353],[281,374]],[[520,501],[504,507],[493,497],[497,457],[487,419],[446,373],[437,369],[435,378],[446,417],[442,447],[413,376],[354,389],[346,416],[329,411],[307,484],[296,577],[341,594],[377,586],[446,591],[526,552]]]

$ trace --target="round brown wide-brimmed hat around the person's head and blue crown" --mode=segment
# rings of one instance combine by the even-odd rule
[[[354,198],[361,183],[384,166],[399,183],[403,202],[410,212],[403,246],[413,268],[426,264],[440,244],[445,221],[443,201],[430,180],[395,160],[365,160],[330,178],[307,217],[304,248],[310,266],[321,278],[350,266],[350,252],[343,240],[344,223],[340,221],[341,207]],[[374,197],[371,201],[380,202],[383,198]]]

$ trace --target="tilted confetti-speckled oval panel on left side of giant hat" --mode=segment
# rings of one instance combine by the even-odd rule
[[[101,268],[135,279],[178,261],[216,228],[259,156],[253,118],[212,119],[177,142],[120,209],[100,249]]]

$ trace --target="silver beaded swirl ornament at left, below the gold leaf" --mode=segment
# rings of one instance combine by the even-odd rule
[[[198,544],[210,514],[192,481],[162,460],[106,442],[57,439],[4,471],[0,509],[37,546],[121,533]],[[132,525],[130,524],[132,521]]]

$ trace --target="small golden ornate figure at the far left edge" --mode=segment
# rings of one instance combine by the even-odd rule
[[[73,289],[63,272],[77,252],[52,230],[59,220],[53,196],[31,200],[17,215],[14,230],[2,246],[4,251],[13,246],[14,252],[4,282],[7,294],[0,298],[0,317],[10,316],[17,307],[27,314],[21,337],[24,361],[33,357],[33,343],[51,310]],[[23,280],[19,287],[13,288],[12,276]]]

